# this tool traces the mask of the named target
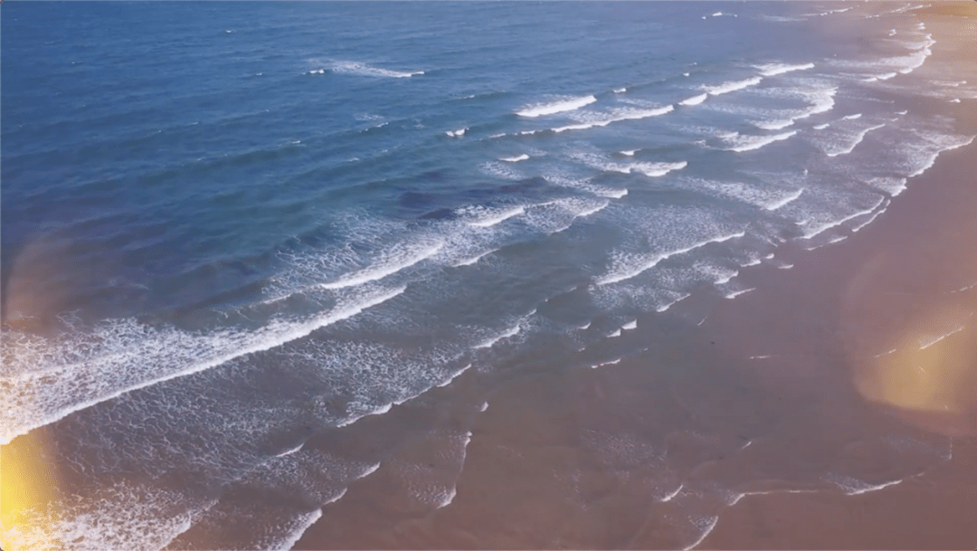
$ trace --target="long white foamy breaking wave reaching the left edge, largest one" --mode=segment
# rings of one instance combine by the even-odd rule
[[[4,402],[29,403],[30,407],[0,411],[0,444],[96,403],[300,339],[387,302],[405,289],[380,288],[340,297],[325,313],[274,318],[252,331],[225,329],[201,334],[151,329],[127,318],[106,322],[92,334],[62,344],[5,335],[6,367],[21,372],[0,379]],[[43,369],[37,369],[38,363]]]

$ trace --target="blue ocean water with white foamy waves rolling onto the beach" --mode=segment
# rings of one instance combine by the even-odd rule
[[[287,548],[379,462],[309,434],[469,368],[480,407],[527,350],[615,361],[969,144],[977,80],[887,8],[8,2],[0,441],[72,450],[97,548],[192,548],[215,511]],[[259,479],[305,501],[222,501]]]

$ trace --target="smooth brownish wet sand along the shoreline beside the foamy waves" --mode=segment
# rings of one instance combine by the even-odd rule
[[[920,11],[957,63],[971,6]],[[380,469],[295,549],[974,548],[975,213],[972,143],[844,241],[744,269],[755,291],[639,318],[647,350],[497,389],[449,505]]]

